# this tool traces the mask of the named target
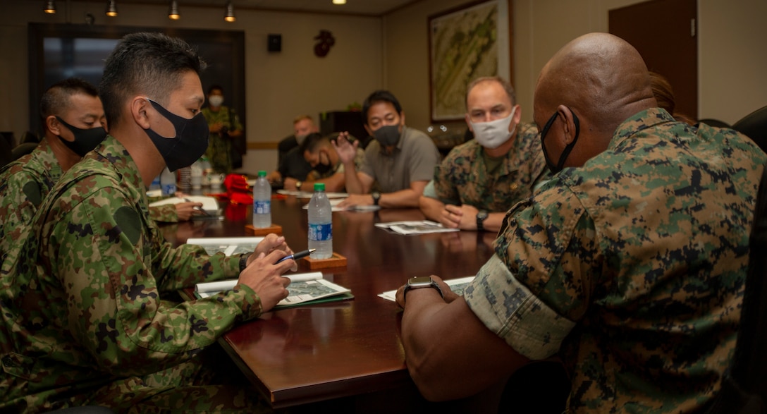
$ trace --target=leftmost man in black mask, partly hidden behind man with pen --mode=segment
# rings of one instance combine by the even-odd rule
[[[107,132],[96,87],[69,78],[45,91],[40,103],[45,131],[31,153],[0,169],[0,258],[15,257],[15,243],[58,179]],[[13,251],[12,251],[13,250]]]

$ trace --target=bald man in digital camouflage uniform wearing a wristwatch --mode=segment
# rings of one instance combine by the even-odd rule
[[[465,297],[400,288],[408,370],[449,399],[558,355],[568,412],[701,409],[735,348],[767,156],[657,108],[639,53],[606,33],[558,51],[534,102],[555,176],[509,212]]]

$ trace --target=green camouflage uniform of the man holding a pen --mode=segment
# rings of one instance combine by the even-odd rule
[[[163,241],[147,218],[137,171],[107,136],[38,209],[21,240],[24,259],[0,278],[0,411],[258,404],[242,386],[186,387],[206,378],[207,366],[193,358],[235,323],[258,317],[261,304],[244,285],[199,301],[169,300],[197,282],[235,278],[240,257]]]

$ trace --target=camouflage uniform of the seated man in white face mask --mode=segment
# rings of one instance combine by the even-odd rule
[[[483,148],[476,140],[453,148],[434,169],[436,198],[489,212],[506,212],[532,195],[535,186],[548,179],[550,173],[538,129],[520,123],[517,131],[514,146],[492,174],[488,173]]]

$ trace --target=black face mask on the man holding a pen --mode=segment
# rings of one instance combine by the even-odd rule
[[[191,166],[208,149],[208,121],[205,120],[202,112],[187,119],[166,110],[149,98],[145,99],[176,128],[176,136],[172,138],[161,136],[152,128],[144,130],[156,149],[160,151],[168,169],[173,172],[176,169]]]

